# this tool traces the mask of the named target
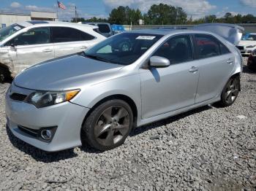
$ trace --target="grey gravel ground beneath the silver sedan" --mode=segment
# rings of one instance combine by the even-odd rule
[[[121,147],[47,153],[6,129],[0,85],[0,190],[256,190],[256,74],[233,106],[143,126]]]

